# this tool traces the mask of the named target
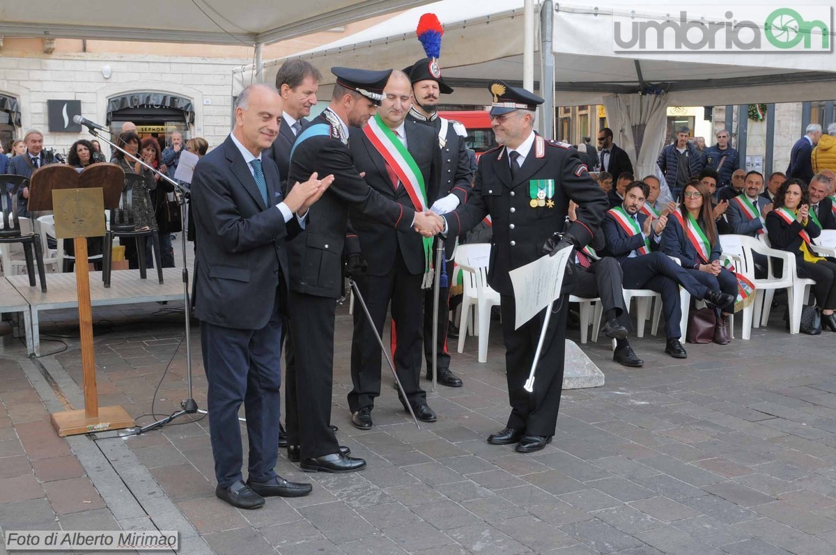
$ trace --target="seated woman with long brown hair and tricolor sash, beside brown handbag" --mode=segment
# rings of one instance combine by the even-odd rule
[[[737,277],[720,262],[721,247],[711,206],[711,192],[700,181],[690,181],[682,191],[678,210],[668,218],[662,232],[662,250],[679,258],[682,267],[709,289],[732,296],[732,302],[716,308],[717,325],[714,342],[725,345],[731,341],[729,317],[734,313],[737,298]]]

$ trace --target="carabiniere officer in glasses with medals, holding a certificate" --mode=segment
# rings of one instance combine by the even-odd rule
[[[513,288],[508,272],[563,247],[576,248],[600,237],[599,224],[608,204],[604,191],[571,145],[543,139],[533,130],[534,114],[543,99],[502,81],[489,85],[491,122],[501,146],[479,159],[476,179],[466,204],[445,216],[448,237],[476,226],[488,214],[493,221],[487,281],[502,298],[502,336],[511,415],[506,427],[490,435],[493,445],[517,444],[530,453],[543,449],[554,435],[563,390],[566,335],[567,268],[563,295],[554,303],[540,356],[534,391],[523,389],[543,328],[545,309],[514,329]],[[577,220],[561,237],[569,201],[578,204]]]

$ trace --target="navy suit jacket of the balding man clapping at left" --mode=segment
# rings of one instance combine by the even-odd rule
[[[273,314],[276,288],[288,286],[285,242],[301,232],[294,216],[286,224],[278,168],[262,156],[268,198],[232,138],[203,156],[191,181],[195,219],[195,316],[225,328],[260,329]],[[311,218],[308,216],[308,221]]]

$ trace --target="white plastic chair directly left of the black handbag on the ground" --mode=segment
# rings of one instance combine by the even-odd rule
[[[809,288],[815,282],[812,279],[798,277],[795,255],[792,252],[779,251],[771,248],[767,233],[762,233],[760,237],[757,237],[757,240],[752,237],[746,237],[746,239],[747,241],[742,241],[745,248],[770,257],[767,278],[752,280],[755,283],[755,290],[757,291],[752,326],[757,328],[758,323],[764,326],[767,325],[769,322],[769,313],[772,309],[772,296],[775,294],[775,290],[787,289],[789,333],[798,334],[798,330],[801,328],[801,308],[804,304],[804,298],[807,298]],[[783,273],[780,278],[775,277],[775,273],[772,270],[772,257],[780,258],[783,262]],[[761,291],[763,295],[760,294]]]

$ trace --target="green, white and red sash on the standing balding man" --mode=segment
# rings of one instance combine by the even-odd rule
[[[404,144],[395,136],[395,133],[389,129],[380,119],[380,114],[375,114],[374,118],[369,120],[369,123],[363,128],[363,132],[369,142],[375,147],[386,163],[390,165],[395,175],[398,176],[400,182],[404,185],[406,193],[410,196],[412,206],[415,211],[423,212],[427,210],[426,199],[426,185],[424,183],[424,176],[421,175],[421,170],[415,163],[415,159],[406,150]],[[395,184],[396,185],[396,184]],[[432,287],[432,237],[421,237],[424,242],[424,282],[421,288],[427,289]]]

